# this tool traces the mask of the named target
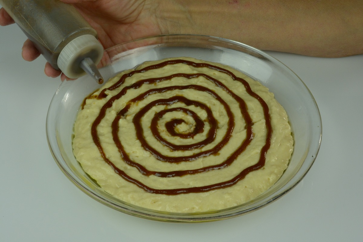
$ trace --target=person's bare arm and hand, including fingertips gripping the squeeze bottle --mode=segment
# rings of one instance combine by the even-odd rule
[[[97,30],[104,48],[140,37],[190,33],[307,56],[363,54],[362,0],[62,1],[74,4]],[[12,23],[0,9],[0,25]],[[39,53],[27,40],[22,55],[32,61]],[[61,73],[47,63],[45,74]]]

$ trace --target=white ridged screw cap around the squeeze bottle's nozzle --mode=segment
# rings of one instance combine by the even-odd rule
[[[103,47],[96,37],[85,34],[70,41],[59,54],[57,65],[69,78],[78,78],[85,74],[81,62],[89,57],[97,65],[103,55]]]

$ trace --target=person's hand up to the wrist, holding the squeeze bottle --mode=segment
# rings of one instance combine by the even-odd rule
[[[155,0],[61,0],[73,4],[97,31],[98,38],[105,49],[116,44],[141,37],[162,34],[160,20],[157,18],[159,1]],[[0,9],[0,25],[13,24],[8,13]],[[22,56],[33,61],[40,56],[39,51],[28,39],[24,42]],[[102,63],[101,63],[102,65]],[[54,69],[48,62],[44,72],[49,77],[61,80],[66,76]]]

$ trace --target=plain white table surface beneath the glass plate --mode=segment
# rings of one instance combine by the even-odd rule
[[[198,224],[149,221],[87,196],[49,151],[45,119],[60,78],[44,58],[26,62],[16,25],[0,28],[0,241],[362,241],[363,56],[268,52],[314,95],[323,122],[317,159],[284,197],[237,218]]]

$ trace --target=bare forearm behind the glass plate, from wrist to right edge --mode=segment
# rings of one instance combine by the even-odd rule
[[[263,50],[337,57],[363,53],[363,1],[163,1],[168,33],[225,37]]]

